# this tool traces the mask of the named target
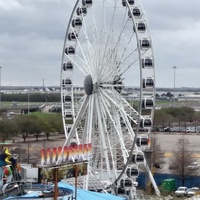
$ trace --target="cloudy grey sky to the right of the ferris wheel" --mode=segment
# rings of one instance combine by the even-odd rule
[[[157,86],[199,87],[200,1],[142,0],[151,28]]]

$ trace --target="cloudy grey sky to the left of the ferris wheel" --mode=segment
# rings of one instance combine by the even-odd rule
[[[73,1],[2,0],[2,85],[58,85],[64,35]],[[3,27],[3,28],[2,28]]]

